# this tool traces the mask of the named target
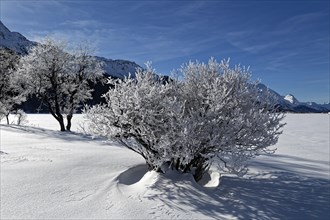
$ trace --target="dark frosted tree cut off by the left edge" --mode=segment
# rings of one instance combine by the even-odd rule
[[[17,106],[25,101],[25,92],[20,91],[13,82],[13,74],[19,56],[12,50],[0,48],[0,119],[17,110]]]

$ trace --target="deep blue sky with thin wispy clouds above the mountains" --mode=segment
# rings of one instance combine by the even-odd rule
[[[329,102],[329,0],[0,0],[1,21],[30,40],[88,42],[95,54],[169,74],[230,57],[300,101]]]

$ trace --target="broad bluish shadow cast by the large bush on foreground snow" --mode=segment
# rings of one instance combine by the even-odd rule
[[[212,190],[195,182],[186,184],[181,180],[160,178],[151,187],[160,193],[148,199],[160,199],[177,210],[185,204],[210,217],[330,219],[329,179],[301,175],[290,171],[290,165],[285,162],[272,164],[273,168],[279,169],[249,178],[223,176],[219,186]],[[262,170],[267,163],[258,163],[258,166]]]

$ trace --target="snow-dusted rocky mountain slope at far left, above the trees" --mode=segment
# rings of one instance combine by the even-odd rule
[[[18,54],[25,55],[28,53],[28,49],[34,45],[36,45],[35,42],[29,41],[18,32],[11,32],[0,21],[0,47],[8,48]]]

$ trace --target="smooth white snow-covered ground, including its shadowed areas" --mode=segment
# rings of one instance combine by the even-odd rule
[[[244,178],[210,171],[202,186],[147,172],[119,144],[59,132],[50,115],[0,125],[1,219],[330,219],[328,114],[289,114],[271,156]],[[220,177],[220,179],[219,179]]]

